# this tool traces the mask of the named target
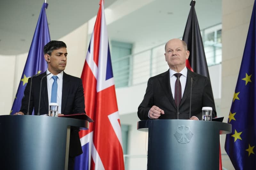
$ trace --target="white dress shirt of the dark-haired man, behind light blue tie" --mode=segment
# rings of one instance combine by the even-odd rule
[[[46,74],[49,74],[50,71],[47,69],[46,70]],[[47,91],[48,91],[48,108],[50,107],[50,103],[51,103],[51,96],[52,96],[52,84],[53,84],[53,78],[52,76],[54,76],[52,73],[47,76]],[[57,84],[58,84],[58,88],[57,88],[57,103],[59,104],[58,107],[58,113],[61,113],[61,99],[62,99],[62,82],[63,82],[63,71],[60,72],[60,74],[56,75],[57,78]]]

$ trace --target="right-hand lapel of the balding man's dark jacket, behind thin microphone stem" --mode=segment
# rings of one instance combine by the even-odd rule
[[[180,101],[180,106],[185,102],[185,100],[188,98],[188,96],[190,95],[190,88],[191,88],[191,78],[192,78],[192,89],[194,88],[196,81],[197,81],[197,76],[195,73],[193,73],[192,71],[188,70],[188,74],[187,74],[187,81],[186,81],[186,86],[185,86],[185,90],[183,93],[183,97]]]

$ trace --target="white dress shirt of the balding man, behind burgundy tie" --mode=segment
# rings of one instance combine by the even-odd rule
[[[174,96],[175,96],[175,82],[177,80],[177,77],[174,74],[176,74],[177,72],[172,70],[172,69],[169,69],[169,72],[170,72],[170,84],[171,84],[171,90],[172,90],[172,97],[174,99]],[[184,91],[185,91],[186,82],[187,82],[187,75],[188,75],[187,67],[184,67],[184,69],[182,69],[179,73],[182,74],[180,76],[181,99],[182,99]]]

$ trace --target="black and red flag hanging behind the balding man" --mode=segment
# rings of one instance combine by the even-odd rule
[[[188,51],[190,52],[189,58],[188,60],[186,60],[186,67],[193,72],[209,78],[210,80],[208,66],[204,53],[204,45],[196,16],[195,4],[196,1],[192,0],[190,2],[191,8],[188,14],[188,20],[182,37],[182,40],[187,43]],[[219,169],[222,170],[221,152],[219,153]]]

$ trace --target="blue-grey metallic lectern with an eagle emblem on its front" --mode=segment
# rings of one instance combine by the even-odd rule
[[[231,124],[195,120],[144,120],[148,131],[148,170],[218,170],[220,134]]]

